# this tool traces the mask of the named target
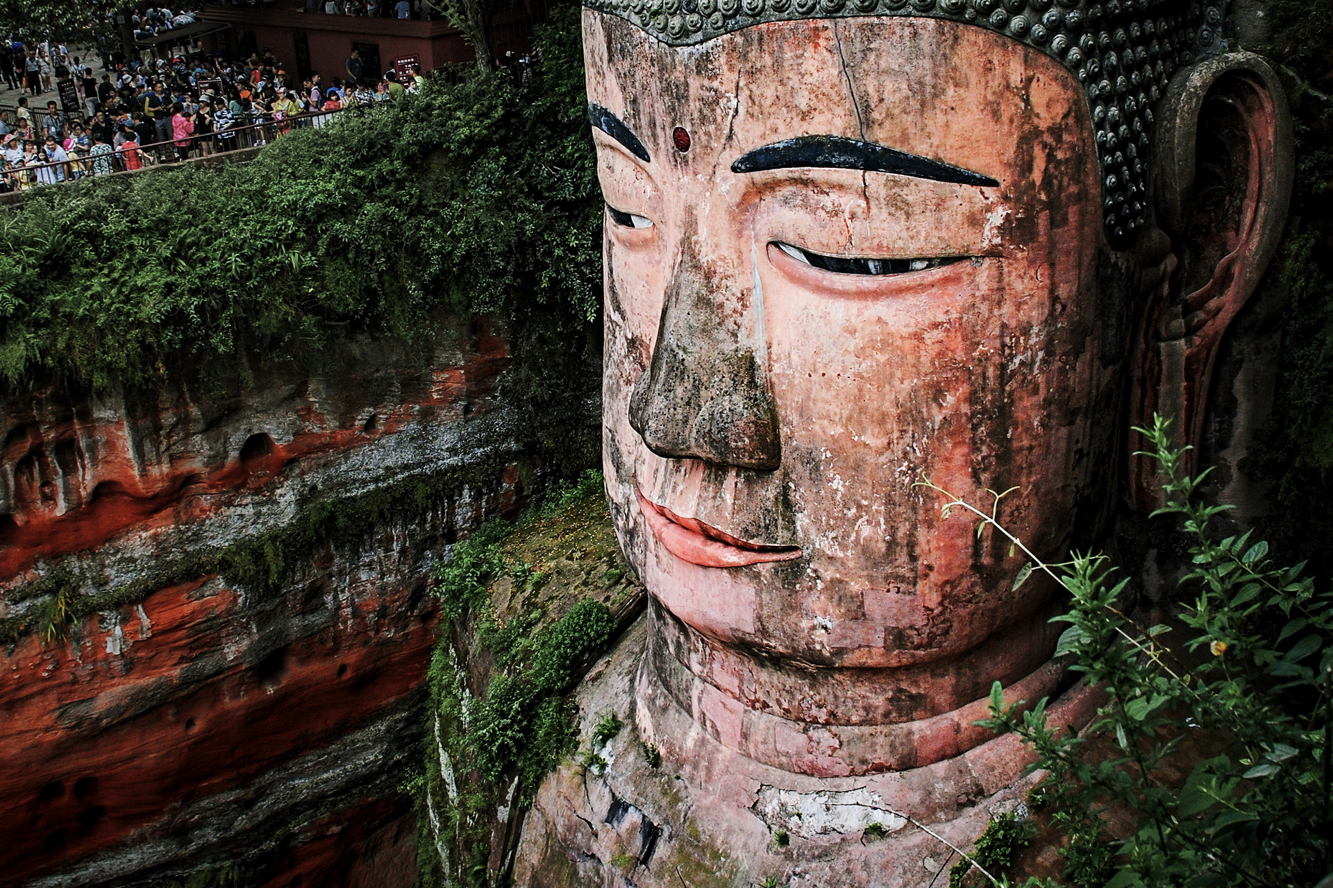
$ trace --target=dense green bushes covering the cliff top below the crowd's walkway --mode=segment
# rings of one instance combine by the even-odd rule
[[[0,209],[0,386],[149,383],[251,351],[319,362],[335,337],[424,339],[461,312],[508,326],[525,391],[564,391],[601,301],[579,9],[537,44],[529,85],[435,77],[249,164]]]

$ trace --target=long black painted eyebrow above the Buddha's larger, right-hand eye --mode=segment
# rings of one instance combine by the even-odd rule
[[[620,122],[620,121],[616,121]],[[929,178],[954,185],[998,185],[996,180],[970,169],[945,164],[929,157],[918,157],[874,142],[844,136],[798,136],[772,145],[745,152],[734,164],[733,173],[758,173],[766,169],[814,166],[820,169],[860,169],[866,173],[896,173],[913,178]]]

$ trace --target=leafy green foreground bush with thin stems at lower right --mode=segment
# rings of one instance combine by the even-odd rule
[[[1166,479],[1158,514],[1192,541],[1180,627],[1130,622],[1118,610],[1128,580],[1113,582],[1104,556],[1033,558],[1072,598],[1057,655],[1106,702],[1073,734],[1048,724],[1045,699],[1005,707],[996,683],[978,724],[1036,750],[1048,772],[1038,801],[1069,837],[1068,884],[1313,885],[1333,867],[1333,594],[1300,564],[1273,564],[1248,533],[1217,541],[1209,529],[1228,507],[1197,502],[1208,473],[1181,475],[1162,419],[1142,431]],[[949,507],[1021,547],[984,511]],[[1185,640],[1166,646],[1177,631]]]

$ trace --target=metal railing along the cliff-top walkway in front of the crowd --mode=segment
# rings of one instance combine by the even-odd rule
[[[144,169],[180,164],[187,160],[201,157],[225,156],[233,150],[259,148],[273,141],[279,136],[293,129],[305,126],[324,126],[335,114],[347,112],[365,112],[379,105],[388,105],[389,100],[375,104],[353,104],[343,108],[329,108],[309,111],[289,117],[275,117],[271,112],[260,113],[256,122],[231,125],[227,129],[211,133],[196,133],[185,138],[168,138],[165,141],[137,145],[127,152],[117,146],[111,152],[91,154],[80,152],[68,160],[48,161],[41,164],[11,164],[5,162],[0,169],[0,193],[17,192],[35,188],[37,185],[56,185],[61,182],[77,181],[85,176],[109,176],[112,173],[136,173]],[[249,116],[249,114],[248,114]],[[180,145],[179,142],[187,142]],[[125,154],[131,154],[127,158]],[[136,165],[131,165],[129,161]],[[103,166],[105,164],[105,166]],[[97,172],[101,168],[104,172]]]

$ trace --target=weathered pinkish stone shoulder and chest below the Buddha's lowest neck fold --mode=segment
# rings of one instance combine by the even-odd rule
[[[866,777],[818,779],[758,764],[717,743],[653,687],[645,674],[652,619],[636,623],[580,687],[584,736],[607,714],[625,727],[603,751],[604,772],[572,762],[543,784],[524,821],[517,884],[706,888],[772,876],[793,888],[924,885],[949,844],[968,847],[1040,777],[1020,776],[1030,752],[1013,736]],[[1072,692],[1053,718],[1077,722],[1088,706]],[[660,767],[647,762],[645,743],[660,752]],[[882,836],[866,833],[870,824]]]

